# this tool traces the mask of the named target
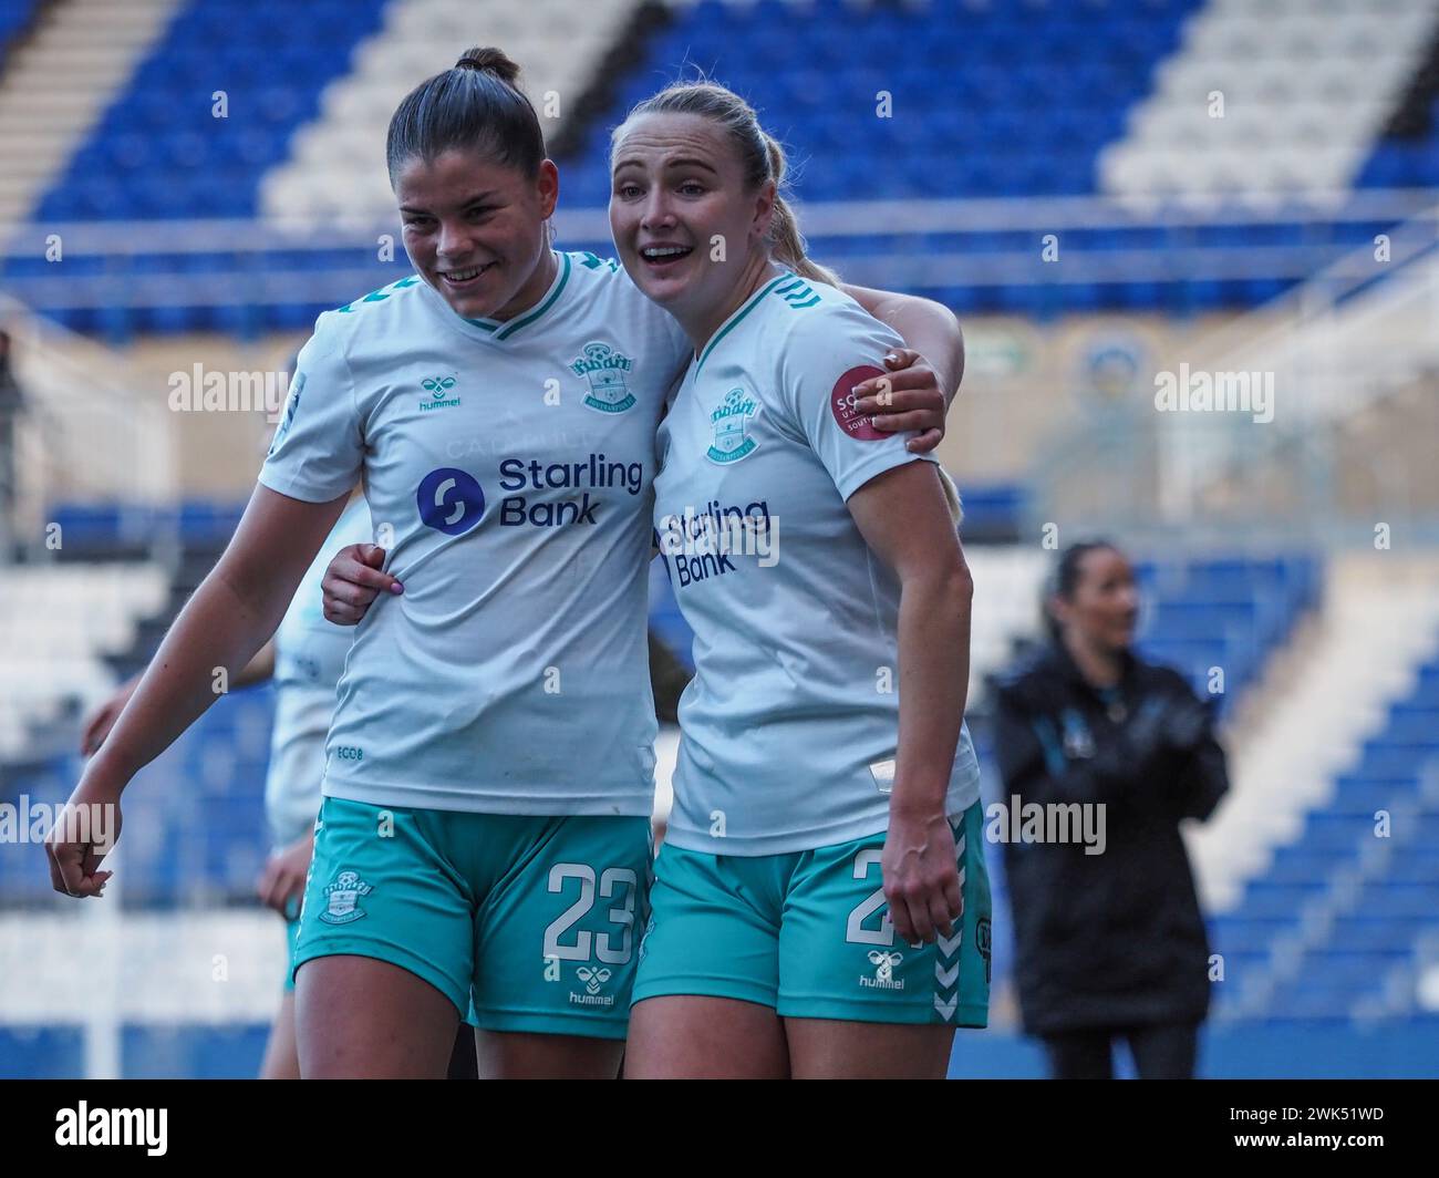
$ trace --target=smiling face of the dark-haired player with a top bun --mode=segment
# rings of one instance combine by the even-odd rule
[[[394,174],[404,251],[465,318],[511,318],[544,294],[545,222],[560,193],[545,160],[534,179],[473,151],[410,157]]]

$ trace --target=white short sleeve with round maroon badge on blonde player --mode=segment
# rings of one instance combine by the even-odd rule
[[[803,318],[783,344],[780,397],[840,495],[848,500],[875,475],[907,462],[932,462],[905,448],[911,433],[878,431],[853,409],[850,389],[884,376],[885,354],[904,340],[853,302],[796,314]]]

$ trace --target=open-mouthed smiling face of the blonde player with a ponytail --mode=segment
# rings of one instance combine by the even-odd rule
[[[745,183],[718,122],[636,115],[620,128],[612,180],[610,232],[626,272],[686,327],[732,304],[747,272],[767,261],[774,183]]]

